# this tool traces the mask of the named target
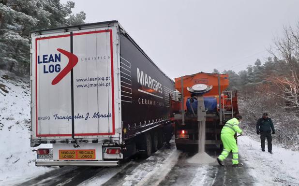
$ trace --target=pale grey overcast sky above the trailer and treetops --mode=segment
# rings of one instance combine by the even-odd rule
[[[273,38],[299,21],[299,0],[73,1],[73,12],[84,11],[87,23],[120,21],[172,79],[264,62]]]

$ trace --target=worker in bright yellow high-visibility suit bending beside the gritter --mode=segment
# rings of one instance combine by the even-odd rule
[[[243,163],[239,163],[238,146],[234,137],[235,133],[242,134],[242,130],[239,128],[239,122],[242,116],[237,115],[233,119],[228,120],[221,130],[221,141],[223,143],[223,151],[217,161],[221,166],[224,166],[224,159],[228,156],[230,151],[233,153],[233,166],[241,167]]]

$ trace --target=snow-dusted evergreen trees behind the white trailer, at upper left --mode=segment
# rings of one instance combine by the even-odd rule
[[[75,3],[60,0],[0,0],[0,69],[29,74],[30,31],[82,24]]]

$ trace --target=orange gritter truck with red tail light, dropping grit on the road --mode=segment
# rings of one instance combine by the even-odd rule
[[[172,120],[175,123],[177,149],[186,150],[198,145],[197,98],[188,88],[194,85],[211,87],[204,94],[206,145],[222,145],[220,131],[225,122],[239,114],[237,91],[225,91],[229,86],[227,74],[199,72],[175,78],[176,100],[172,101]]]

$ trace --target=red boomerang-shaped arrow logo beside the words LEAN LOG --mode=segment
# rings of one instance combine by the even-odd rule
[[[66,76],[71,70],[75,67],[75,65],[78,63],[78,57],[76,57],[74,54],[63,50],[61,48],[57,49],[60,53],[65,55],[66,57],[69,58],[69,63],[62,69],[62,71],[53,79],[52,85],[56,85],[60,82],[64,76]]]

